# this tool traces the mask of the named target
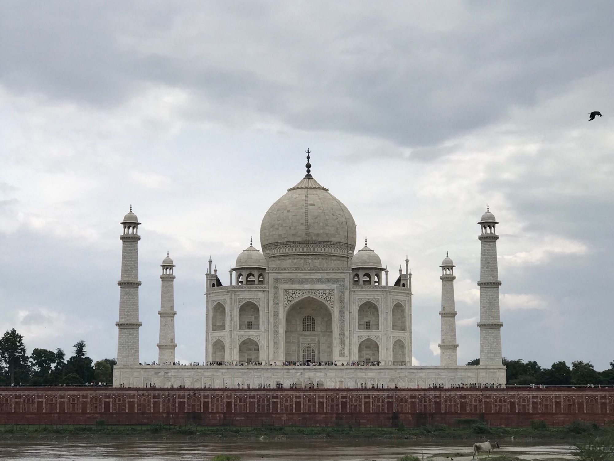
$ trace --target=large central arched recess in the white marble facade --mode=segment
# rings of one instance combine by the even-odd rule
[[[305,352],[305,354],[303,354]],[[284,360],[333,360],[333,316],[324,302],[312,296],[293,302],[286,310]]]

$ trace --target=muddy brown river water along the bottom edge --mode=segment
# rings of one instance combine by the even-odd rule
[[[55,442],[0,443],[0,460],[177,461],[209,460],[216,454],[238,454],[241,461],[388,461],[405,454],[425,461],[471,459],[470,442],[416,441],[240,441],[229,442]],[[493,455],[525,459],[571,458],[572,447],[551,442],[505,442]],[[427,460],[428,459],[428,460]],[[484,455],[485,459],[485,455]]]

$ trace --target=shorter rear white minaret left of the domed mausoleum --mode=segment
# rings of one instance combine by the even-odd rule
[[[158,342],[158,363],[168,364],[175,361],[175,348],[177,344],[175,342],[175,291],[173,274],[175,265],[173,259],[169,258],[168,251],[166,252],[166,258],[163,259],[162,275],[160,280],[162,281],[162,293],[160,296],[160,342]]]

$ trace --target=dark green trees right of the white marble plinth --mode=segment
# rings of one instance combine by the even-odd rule
[[[476,358],[467,362],[468,365],[479,365]],[[569,366],[564,360],[554,362],[550,368],[542,368],[536,361],[525,362],[521,358],[508,360],[503,358],[507,367],[507,385],[543,384],[546,386],[586,386],[614,385],[614,360],[610,368],[597,371],[591,362],[583,360],[572,361]]]

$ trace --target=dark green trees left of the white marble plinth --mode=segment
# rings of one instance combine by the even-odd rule
[[[68,360],[59,347],[36,347],[28,356],[23,336],[10,329],[0,338],[0,384],[111,384],[117,360],[104,358],[93,363],[85,347],[85,341],[77,341]]]

